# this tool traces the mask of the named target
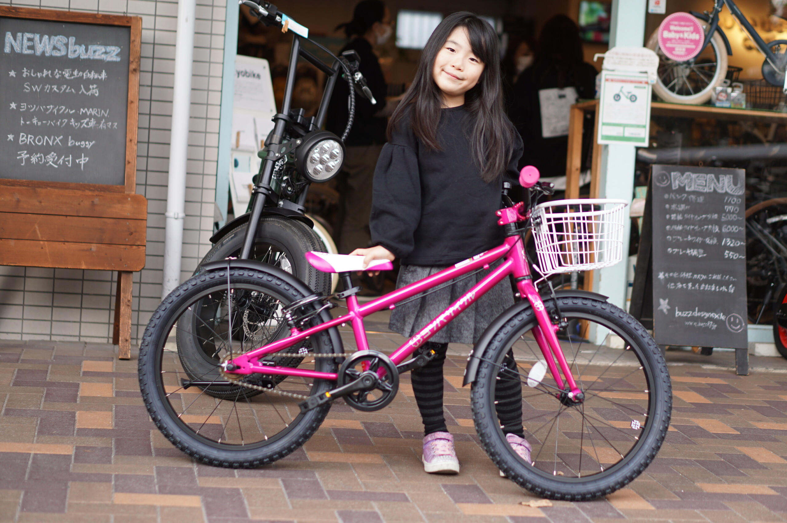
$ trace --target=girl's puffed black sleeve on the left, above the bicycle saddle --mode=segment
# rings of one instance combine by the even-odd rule
[[[421,219],[421,182],[416,150],[394,140],[382,147],[371,201],[372,245],[382,245],[397,258],[407,257]]]

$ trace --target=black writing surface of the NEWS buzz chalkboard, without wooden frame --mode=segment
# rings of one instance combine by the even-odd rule
[[[126,183],[131,28],[0,17],[0,178]]]

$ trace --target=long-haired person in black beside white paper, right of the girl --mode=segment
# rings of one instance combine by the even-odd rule
[[[574,20],[565,15],[548,20],[533,65],[512,92],[509,114],[525,144],[519,167],[534,165],[542,178],[566,175],[569,108],[578,98],[595,97],[596,74],[584,61]]]

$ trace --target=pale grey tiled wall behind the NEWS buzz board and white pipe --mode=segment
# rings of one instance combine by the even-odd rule
[[[136,344],[161,301],[178,3],[0,0],[0,5],[142,17],[137,193],[148,199],[148,228],[146,267],[134,274]],[[197,0],[181,281],[208,252],[212,234],[226,9],[227,0]],[[115,283],[116,273],[109,271],[0,266],[0,339],[111,341]]]

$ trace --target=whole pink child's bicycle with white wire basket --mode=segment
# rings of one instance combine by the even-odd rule
[[[663,356],[641,324],[605,296],[553,291],[546,278],[534,282],[523,246],[532,228],[536,267],[545,277],[617,263],[625,202],[536,205],[549,186],[538,183],[533,168],[523,169],[520,182],[530,187],[532,203],[513,204],[504,191],[505,208],[497,212],[502,245],[367,304],[350,288],[357,256],[309,253],[312,266],[340,274],[345,291],[334,296],[254,260],[205,264],[164,299],[142,340],[139,383],[153,422],[209,465],[275,462],[309,440],[337,398],[358,411],[386,407],[400,374],[432,357],[424,342],[511,278],[515,304],[475,344],[464,375],[482,447],[512,481],[554,499],[593,499],[634,480],[656,456],[670,422]],[[392,267],[379,260],[370,268]],[[369,349],[365,317],[478,271],[488,274],[392,354]],[[348,311],[334,318],[336,298],[346,300]],[[345,324],[356,351],[344,351],[338,327]],[[512,386],[522,390],[513,395],[521,401],[511,400]],[[502,388],[505,404],[496,399]],[[508,445],[501,410],[522,412],[531,462]]]

